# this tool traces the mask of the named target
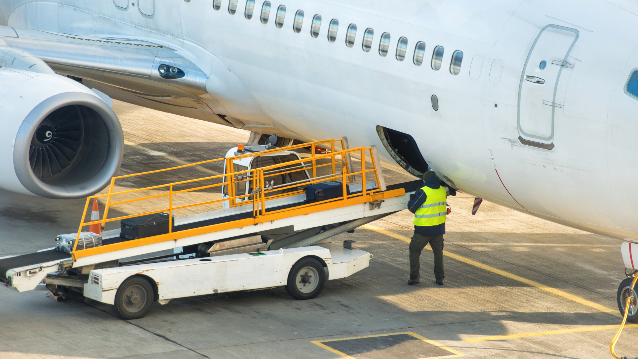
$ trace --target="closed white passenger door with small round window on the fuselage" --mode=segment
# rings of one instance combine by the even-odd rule
[[[539,148],[554,148],[556,88],[561,72],[574,67],[567,56],[578,39],[576,29],[547,25],[531,45],[519,85],[519,141]]]

